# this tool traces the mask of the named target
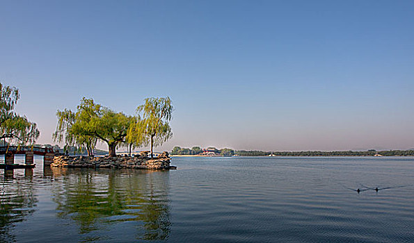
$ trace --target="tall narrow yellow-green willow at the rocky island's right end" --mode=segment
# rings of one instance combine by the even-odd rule
[[[173,133],[168,122],[173,118],[173,106],[170,97],[147,98],[142,106],[136,108],[141,121],[136,122],[134,131],[145,145],[150,145],[151,158],[154,158],[154,146],[160,146],[169,140]]]

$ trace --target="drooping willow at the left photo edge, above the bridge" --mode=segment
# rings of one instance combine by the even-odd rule
[[[35,123],[14,112],[19,98],[16,87],[0,83],[0,140],[3,139],[4,144],[34,144],[40,135]]]

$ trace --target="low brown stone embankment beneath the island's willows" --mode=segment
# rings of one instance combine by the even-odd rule
[[[177,169],[170,165],[168,152],[157,158],[149,158],[148,152],[130,156],[88,157],[88,156],[55,156],[51,167],[89,167],[89,168],[131,168],[131,169]]]

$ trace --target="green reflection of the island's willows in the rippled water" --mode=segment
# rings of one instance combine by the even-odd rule
[[[125,224],[133,224],[138,240],[168,238],[171,224],[168,171],[64,168],[52,171],[55,178],[63,178],[53,186],[57,215],[77,222],[83,240],[109,240],[116,236],[108,235],[107,231],[117,227],[125,231]],[[118,236],[122,238],[123,233],[118,232]]]

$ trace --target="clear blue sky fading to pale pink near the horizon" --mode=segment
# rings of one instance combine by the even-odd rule
[[[0,1],[0,82],[55,144],[82,97],[170,97],[173,146],[414,148],[414,1]],[[104,144],[99,147],[106,149]]]

